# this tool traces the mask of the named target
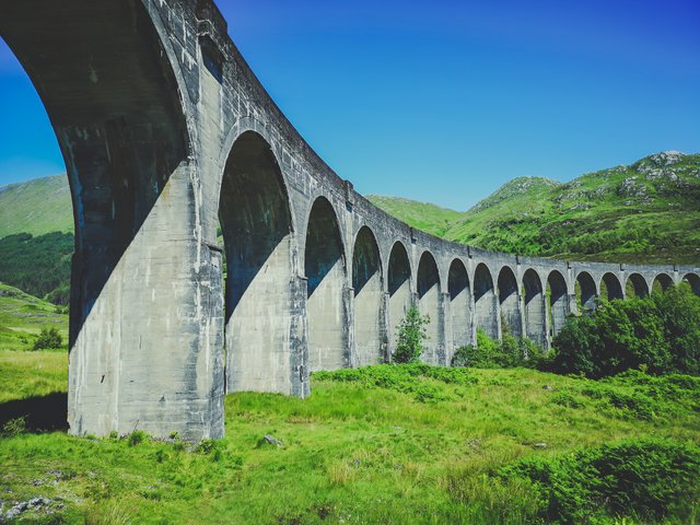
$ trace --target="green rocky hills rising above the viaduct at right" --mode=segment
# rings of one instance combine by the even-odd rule
[[[373,201],[415,228],[487,249],[602,261],[700,260],[700,154],[657,153],[567,184],[515,178],[446,230],[442,219],[421,228],[441,217],[435,210],[421,215],[422,205]],[[417,212],[399,214],[397,206]]]

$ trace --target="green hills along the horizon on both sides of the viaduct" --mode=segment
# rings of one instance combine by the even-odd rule
[[[655,153],[569,183],[517,177],[466,212],[397,197],[368,199],[418,230],[494,252],[700,261],[700,154]],[[0,281],[67,304],[72,232],[66,175],[0,187]]]

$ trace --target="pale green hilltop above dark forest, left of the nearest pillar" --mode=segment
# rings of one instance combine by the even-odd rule
[[[0,238],[14,233],[72,232],[72,206],[66,175],[4,186],[0,188]]]

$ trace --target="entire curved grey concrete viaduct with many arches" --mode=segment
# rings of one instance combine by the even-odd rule
[[[698,268],[491,253],[387,215],[304,142],[212,0],[0,0],[0,35],[70,178],[73,434],[221,438],[226,392],[303,397],[313,371],[384,362],[410,304],[422,359],[448,364],[477,327],[548,345],[602,293],[700,293]]]

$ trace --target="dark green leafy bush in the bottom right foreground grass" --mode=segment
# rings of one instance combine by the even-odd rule
[[[593,516],[642,521],[688,516],[700,499],[700,447],[672,440],[623,441],[560,457],[532,457],[502,467],[502,480],[526,480],[548,522]]]

